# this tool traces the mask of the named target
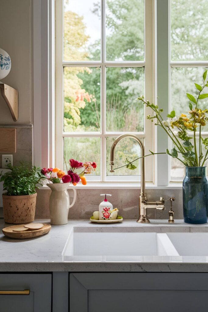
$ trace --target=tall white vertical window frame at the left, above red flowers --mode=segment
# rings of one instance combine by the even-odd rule
[[[55,165],[55,1],[33,1],[33,159]]]

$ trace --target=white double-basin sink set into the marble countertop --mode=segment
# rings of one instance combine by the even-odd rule
[[[141,231],[141,229],[140,229]],[[208,233],[139,232],[138,227],[72,227],[68,262],[208,262]]]

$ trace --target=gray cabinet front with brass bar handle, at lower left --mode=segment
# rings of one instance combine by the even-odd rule
[[[0,274],[0,290],[30,290],[29,295],[0,295],[2,312],[51,312],[51,274]]]

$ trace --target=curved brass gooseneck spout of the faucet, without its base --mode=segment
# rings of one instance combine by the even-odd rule
[[[114,172],[114,150],[115,150],[115,147],[116,147],[117,143],[124,138],[135,139],[138,142],[139,146],[141,147],[141,156],[142,156],[142,158],[141,158],[141,194],[144,196],[144,194],[145,194],[144,144],[136,135],[122,134],[114,141],[113,145],[111,146],[111,150],[110,150],[110,166],[111,166],[110,172]]]

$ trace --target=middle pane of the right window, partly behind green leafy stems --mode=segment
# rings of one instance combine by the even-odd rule
[[[202,74],[206,68],[202,67],[172,67],[171,68],[171,110],[176,111],[176,116],[187,114],[190,100],[186,93],[194,95],[196,98],[199,91],[194,83],[203,86]],[[208,93],[208,88],[205,87],[202,91]],[[197,95],[197,96],[196,96]],[[207,109],[207,99],[199,100],[197,107],[202,110]],[[208,125],[201,128],[201,131],[208,131]]]

